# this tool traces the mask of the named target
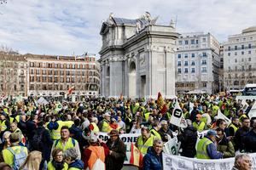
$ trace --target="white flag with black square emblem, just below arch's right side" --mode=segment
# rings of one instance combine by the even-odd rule
[[[183,111],[180,108],[178,102],[176,102],[175,107],[172,111],[172,117],[171,117],[170,123],[172,123],[173,125],[176,125],[177,127],[182,127],[182,128],[188,127],[188,124],[183,115]]]

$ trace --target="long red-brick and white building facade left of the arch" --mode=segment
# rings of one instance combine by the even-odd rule
[[[64,96],[74,87],[77,96],[98,95],[100,75],[95,56],[26,54],[27,94]]]

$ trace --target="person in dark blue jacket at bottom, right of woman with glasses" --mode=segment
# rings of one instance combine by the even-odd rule
[[[74,148],[70,148],[64,153],[64,160],[68,164],[68,170],[84,169],[84,162],[78,159],[78,154]]]

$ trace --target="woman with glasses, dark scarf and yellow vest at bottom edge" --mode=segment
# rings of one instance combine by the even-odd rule
[[[49,161],[49,163],[47,164],[48,170],[55,170],[55,169],[67,170],[68,169],[67,163],[63,161],[63,152],[61,149],[53,150],[52,157],[53,157],[53,160]]]

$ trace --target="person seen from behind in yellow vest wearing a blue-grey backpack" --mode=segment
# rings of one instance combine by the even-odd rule
[[[14,169],[19,169],[27,156],[27,148],[25,146],[20,146],[19,140],[19,133],[11,133],[9,135],[11,147],[3,150],[3,161]]]

